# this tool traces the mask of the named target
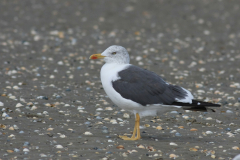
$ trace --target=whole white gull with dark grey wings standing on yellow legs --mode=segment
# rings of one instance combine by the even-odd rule
[[[91,55],[90,59],[106,62],[101,68],[105,92],[118,107],[135,115],[132,137],[119,136],[123,140],[141,138],[140,117],[156,116],[173,108],[207,111],[208,107],[220,107],[219,104],[194,100],[185,88],[169,84],[156,73],[129,64],[129,54],[124,47],[110,46],[101,54]]]

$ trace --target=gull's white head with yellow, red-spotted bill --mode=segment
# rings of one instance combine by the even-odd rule
[[[93,54],[90,59],[104,59],[106,63],[129,64],[130,58],[127,50],[122,46],[110,46],[101,54]]]

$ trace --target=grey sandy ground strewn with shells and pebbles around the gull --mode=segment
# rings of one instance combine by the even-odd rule
[[[0,1],[0,159],[225,159],[240,153],[239,1]],[[216,112],[141,119],[106,96],[102,61],[131,63],[181,85]]]

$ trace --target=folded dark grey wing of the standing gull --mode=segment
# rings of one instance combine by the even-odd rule
[[[113,88],[126,99],[141,105],[171,105],[175,99],[184,99],[187,92],[181,87],[167,84],[160,76],[148,70],[130,66],[118,73]]]

